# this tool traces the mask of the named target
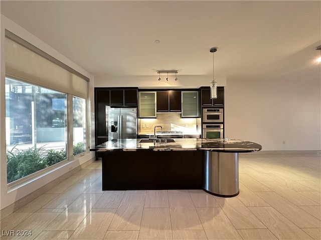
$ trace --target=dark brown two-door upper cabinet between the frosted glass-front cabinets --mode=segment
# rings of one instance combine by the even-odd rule
[[[167,90],[156,92],[157,112],[181,112],[181,91]]]

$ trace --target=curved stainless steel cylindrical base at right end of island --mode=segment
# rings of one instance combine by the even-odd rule
[[[239,194],[238,152],[205,150],[203,189],[213,195],[232,197]]]

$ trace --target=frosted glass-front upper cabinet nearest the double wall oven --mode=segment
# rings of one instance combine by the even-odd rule
[[[182,117],[199,117],[198,91],[182,91]]]

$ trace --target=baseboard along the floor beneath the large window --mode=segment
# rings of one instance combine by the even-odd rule
[[[52,180],[51,182],[47,183],[46,185],[40,187],[36,191],[33,191],[33,192],[29,193],[28,195],[24,196],[23,198],[15,201],[14,203],[10,204],[7,207],[1,209],[1,211],[0,211],[1,219],[5,218],[6,216],[10,215],[11,213],[17,211],[19,208],[23,207],[27,203],[29,203],[32,200],[36,199],[41,194],[45,193],[46,191],[48,191],[52,187],[56,186],[57,184],[59,184],[60,182],[65,180],[66,178],[68,178],[71,175],[75,174],[77,171],[83,169],[84,167],[86,167],[87,165],[89,165],[90,163],[92,163],[94,161],[95,161],[95,158],[92,158],[92,159],[84,162],[83,164],[77,166],[76,168],[74,168],[74,169],[68,171],[67,173],[57,177],[55,180]]]

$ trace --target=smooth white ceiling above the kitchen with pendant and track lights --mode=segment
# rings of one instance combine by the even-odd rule
[[[321,1],[5,1],[1,13],[94,76],[319,74]],[[159,40],[156,43],[155,40]]]

